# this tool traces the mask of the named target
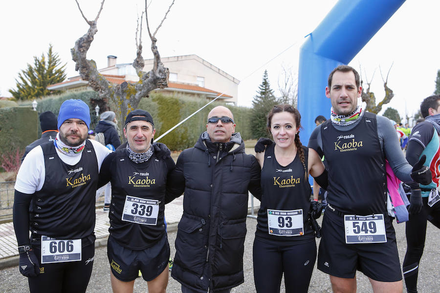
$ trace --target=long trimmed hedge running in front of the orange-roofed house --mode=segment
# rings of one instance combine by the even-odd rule
[[[67,92],[58,96],[39,99],[37,101],[37,111],[38,113],[52,111],[55,115],[58,115],[61,104],[67,99],[80,99],[90,107],[90,100],[97,100],[99,97],[95,91]],[[206,99],[183,94],[170,97],[162,93],[153,92],[149,98],[143,98],[137,108],[147,110],[151,113],[156,128],[154,137],[158,138],[162,133],[175,126],[208,102]],[[21,105],[30,106],[30,102],[21,103]],[[224,102],[216,101],[168,133],[160,142],[166,144],[172,150],[180,150],[194,146],[200,134],[206,130],[206,119],[209,111],[218,105],[225,105],[231,109],[234,114],[235,123],[237,124],[235,128],[236,132],[241,133],[243,140],[251,139],[251,109],[241,106],[229,106]],[[34,113],[37,112],[34,111]],[[99,122],[99,117],[96,116],[94,108],[90,108],[90,119],[90,129],[93,129]],[[36,121],[34,124],[36,123],[39,128],[40,123],[38,118]],[[38,129],[38,133],[41,134],[40,129]]]

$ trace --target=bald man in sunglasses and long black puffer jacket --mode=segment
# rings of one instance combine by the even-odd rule
[[[207,131],[182,151],[166,203],[184,191],[171,276],[183,293],[229,293],[244,282],[248,190],[261,199],[260,166],[244,153],[231,111],[215,107]]]

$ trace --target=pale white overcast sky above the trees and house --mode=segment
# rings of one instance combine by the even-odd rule
[[[94,19],[101,1],[79,2],[86,17]],[[276,91],[283,64],[297,72],[304,36],[316,28],[336,2],[176,0],[156,35],[157,46],[162,57],[196,54],[239,79],[238,104],[250,106],[264,69]],[[152,1],[152,29],[170,3]],[[0,7],[0,96],[10,96],[8,89],[15,88],[20,70],[33,62],[33,56],[46,52],[49,43],[67,63],[67,77],[77,75],[70,48],[87,32],[88,25],[74,0],[2,1]],[[107,66],[108,55],[117,56],[118,63],[132,63],[136,19],[143,7],[141,0],[105,2],[88,51],[88,59],[95,60],[98,68]],[[435,90],[440,69],[439,11],[438,0],[407,0],[350,63],[356,69],[362,66],[364,79],[370,80],[375,70],[372,89],[381,100],[384,91],[379,65],[386,75],[394,62],[388,86],[395,97],[388,106],[396,108],[401,116],[411,116]],[[152,58],[146,30],[143,44],[143,57]],[[335,45],[344,44],[335,40]]]

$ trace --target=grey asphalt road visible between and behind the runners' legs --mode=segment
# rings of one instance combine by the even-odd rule
[[[244,254],[244,283],[232,290],[232,293],[252,293],[255,292],[253,272],[252,272],[252,242],[254,239],[256,221],[247,219],[247,236],[245,242]],[[397,245],[399,249],[400,261],[406,250],[405,240],[405,224],[395,224]],[[171,244],[171,253],[174,255],[174,241],[176,239],[176,231],[169,233],[169,242]],[[440,230],[428,223],[426,246],[423,257],[420,262],[419,271],[419,293],[439,293],[440,292],[440,254],[438,253],[440,241]],[[18,271],[17,267],[7,268],[0,271],[0,293],[26,293],[29,292],[27,287],[27,279]],[[358,288],[357,292],[370,293],[373,292],[368,279],[360,272],[357,273]],[[180,285],[170,277],[167,288],[168,292],[180,292]],[[88,293],[111,292],[110,286],[110,267],[107,259],[106,247],[96,249],[93,272],[90,283],[88,285]],[[148,292],[147,284],[140,278],[134,283],[134,292]],[[282,285],[281,292],[285,292]],[[309,288],[310,293],[331,292],[329,277],[317,271],[316,268],[312,275]],[[404,292],[406,290],[404,289]]]

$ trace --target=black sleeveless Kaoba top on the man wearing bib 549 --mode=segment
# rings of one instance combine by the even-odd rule
[[[385,155],[376,115],[365,112],[359,124],[347,131],[337,130],[329,121],[321,125],[329,172],[327,202],[344,213],[386,213]]]

